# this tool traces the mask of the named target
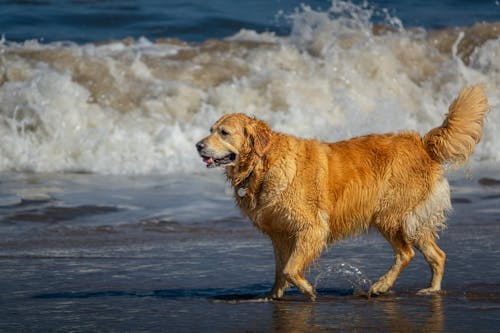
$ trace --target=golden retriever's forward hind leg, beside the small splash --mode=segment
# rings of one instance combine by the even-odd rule
[[[391,289],[399,273],[409,264],[415,252],[411,245],[404,239],[401,232],[395,234],[385,233],[380,230],[394,250],[394,264],[377,282],[370,288],[371,295],[379,295]]]

